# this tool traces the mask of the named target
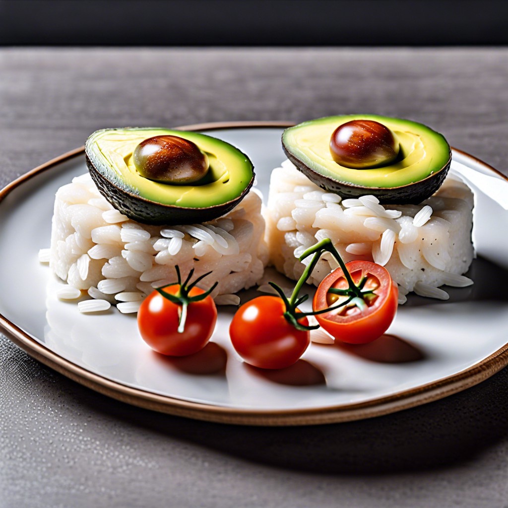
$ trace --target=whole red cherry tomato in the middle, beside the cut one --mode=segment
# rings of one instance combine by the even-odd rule
[[[282,369],[303,355],[310,334],[290,324],[284,317],[285,310],[284,302],[276,296],[260,296],[237,310],[229,333],[236,352],[246,363],[263,369]],[[306,317],[298,322],[308,325]]]

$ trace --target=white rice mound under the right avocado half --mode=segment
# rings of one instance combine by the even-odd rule
[[[373,196],[341,200],[284,161],[272,172],[265,213],[270,261],[279,272],[298,279],[310,262],[299,262],[300,255],[330,238],[345,262],[385,266],[399,285],[401,303],[410,291],[447,299],[441,285],[472,283],[461,274],[474,256],[473,204],[469,187],[453,176],[420,205],[382,206]],[[319,284],[337,266],[326,253],[308,282]]]

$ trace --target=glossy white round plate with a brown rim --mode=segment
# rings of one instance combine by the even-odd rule
[[[258,188],[266,196],[270,171],[285,158],[281,122],[210,127],[211,135],[249,154]],[[206,130],[203,125],[195,128]],[[234,309],[223,308],[212,341],[226,352],[226,369],[196,374],[181,361],[153,353],[138,335],[135,316],[115,308],[100,315],[80,314],[75,302],[54,296],[61,282],[38,262],[38,251],[49,246],[56,189],[86,172],[81,149],[0,193],[0,325],[29,354],[94,390],[204,420],[328,423],[444,397],[508,363],[508,295],[501,288],[508,282],[508,204],[502,203],[508,182],[463,152],[454,150],[453,158],[454,164],[463,165],[459,172],[475,192],[473,236],[479,258],[469,273],[475,284],[453,289],[446,302],[410,296],[388,331],[397,338],[357,347],[312,344],[296,367],[263,374],[232,350],[228,326]],[[242,300],[251,295],[242,295]],[[220,364],[222,357],[209,352]],[[326,382],[312,384],[309,379]]]

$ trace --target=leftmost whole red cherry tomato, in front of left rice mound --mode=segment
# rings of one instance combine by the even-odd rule
[[[180,284],[164,288],[176,295]],[[202,289],[190,289],[188,296],[205,293]],[[156,352],[168,356],[186,356],[200,351],[210,339],[217,321],[217,309],[210,296],[189,303],[185,327],[178,332],[182,306],[175,304],[154,291],[143,301],[138,310],[138,327],[143,340]]]

